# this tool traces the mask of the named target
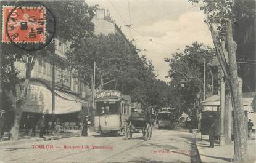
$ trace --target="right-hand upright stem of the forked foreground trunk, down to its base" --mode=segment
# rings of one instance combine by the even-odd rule
[[[243,161],[247,157],[247,125],[242,103],[242,79],[238,77],[236,65],[237,44],[233,41],[231,20],[227,20],[226,42],[228,45],[229,83],[234,111],[234,161]]]

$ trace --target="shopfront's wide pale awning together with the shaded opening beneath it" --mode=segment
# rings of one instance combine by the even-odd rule
[[[55,91],[54,114],[62,124],[78,125],[78,113],[85,105],[85,100],[72,93]],[[28,85],[20,127],[23,128],[25,117],[28,114],[38,122],[42,113],[46,114],[46,122],[52,121],[52,92],[41,82],[31,81]]]

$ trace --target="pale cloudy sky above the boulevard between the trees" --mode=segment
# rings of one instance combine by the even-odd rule
[[[139,55],[152,60],[159,79],[170,70],[164,58],[198,41],[213,47],[210,31],[204,23],[200,4],[188,0],[86,0],[109,10],[126,38],[133,40]],[[127,28],[124,25],[131,25]],[[145,49],[145,50],[144,50]]]

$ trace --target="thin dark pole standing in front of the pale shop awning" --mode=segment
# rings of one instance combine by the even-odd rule
[[[52,55],[52,135],[54,135],[55,122],[55,63],[54,54]]]

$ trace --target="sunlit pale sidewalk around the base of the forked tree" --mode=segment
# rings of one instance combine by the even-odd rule
[[[248,163],[254,163],[256,161],[255,156],[255,134],[252,134],[252,138],[248,139]],[[197,149],[200,154],[202,163],[219,163],[219,162],[232,162],[234,154],[234,143],[230,145],[220,146],[219,141],[215,141],[215,147],[209,148],[209,140],[207,135],[203,135],[202,141],[200,140],[200,134],[197,135]]]

